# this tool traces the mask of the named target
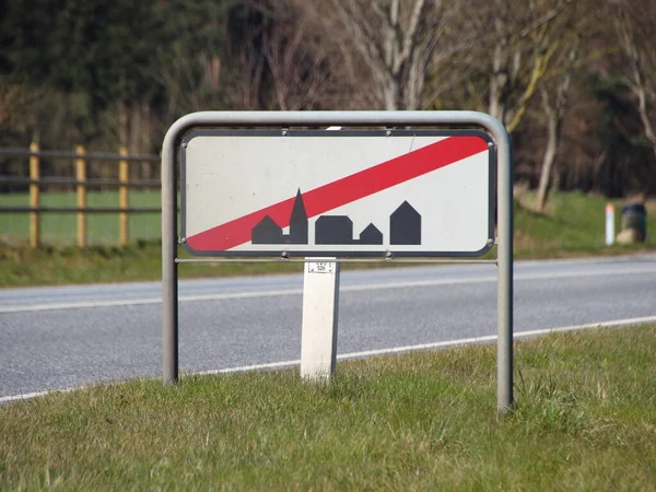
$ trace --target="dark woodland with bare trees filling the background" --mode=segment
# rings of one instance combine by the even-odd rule
[[[654,33],[656,0],[0,0],[0,145],[156,153],[201,109],[476,109],[543,200],[654,194]]]

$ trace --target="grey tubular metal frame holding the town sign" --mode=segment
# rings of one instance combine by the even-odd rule
[[[235,128],[412,127],[485,130],[496,152],[497,216],[497,411],[513,406],[513,155],[496,118],[478,112],[201,112],[175,121],[162,145],[162,378],[178,379],[178,163],[190,131]],[[313,255],[315,253],[313,251]],[[191,259],[185,261],[203,261]],[[204,259],[212,261],[212,259]],[[235,259],[233,261],[244,261]],[[265,261],[279,261],[265,259]],[[298,259],[313,261],[313,259]],[[340,260],[338,260],[340,261]],[[430,261],[430,260],[426,260]]]

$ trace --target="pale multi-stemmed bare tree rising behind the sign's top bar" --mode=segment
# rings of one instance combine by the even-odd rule
[[[325,42],[339,46],[341,74],[351,79],[361,101],[367,107],[394,110],[420,109],[431,103],[425,97],[426,81],[457,49],[453,43],[442,42],[450,17],[465,2],[330,0],[321,7],[297,3],[321,26]]]

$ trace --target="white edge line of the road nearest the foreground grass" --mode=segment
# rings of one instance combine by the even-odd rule
[[[513,333],[513,338],[528,338],[528,337],[538,337],[540,335],[549,335],[549,333],[558,333],[562,331],[578,331],[586,330],[591,328],[613,328],[619,326],[629,326],[629,325],[641,325],[645,323],[656,323],[656,315],[652,316],[642,316],[639,318],[624,318],[624,319],[614,319],[611,321],[598,321],[598,323],[588,323],[585,325],[571,325],[571,326],[561,326],[555,328],[546,328],[540,330],[528,330],[528,331],[516,331]],[[405,345],[405,347],[391,347],[388,349],[378,349],[378,350],[365,350],[362,352],[350,352],[342,353],[337,355],[337,359],[342,361],[347,359],[362,359],[372,355],[388,355],[394,353],[403,353],[403,352],[413,352],[420,350],[430,350],[430,349],[444,349],[447,347],[461,347],[461,345],[470,345],[475,343],[484,343],[484,342],[493,342],[496,340],[496,335],[487,335],[483,337],[471,337],[471,338],[461,338],[458,340],[446,340],[441,342],[433,343],[419,343],[415,345]],[[258,370],[272,370],[272,368],[281,368],[281,367],[292,367],[295,365],[300,365],[300,360],[294,361],[281,361],[281,362],[270,362],[267,364],[254,364],[254,365],[243,365],[239,367],[227,367],[222,370],[213,370],[213,371],[201,371],[195,373],[188,373],[188,375],[192,376],[210,376],[216,374],[234,374],[234,373],[245,373],[248,371],[258,371]],[[35,391],[35,393],[26,393],[22,395],[12,395],[0,397],[0,405],[8,403],[11,401],[20,401],[20,400],[28,400],[32,398],[42,397],[51,393],[69,393],[74,391],[77,389],[82,389],[85,386],[81,386],[78,388],[66,388],[66,389],[54,389],[48,391]]]

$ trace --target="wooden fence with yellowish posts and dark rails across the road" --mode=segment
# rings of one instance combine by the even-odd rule
[[[132,162],[161,162],[159,155],[128,155],[125,148],[117,154],[108,152],[86,152],[82,145],[77,145],[73,152],[44,151],[37,143],[32,143],[30,150],[16,148],[0,148],[0,155],[13,157],[28,157],[28,176],[0,175],[0,184],[27,185],[30,189],[28,207],[0,207],[1,213],[25,212],[30,216],[30,246],[36,248],[40,244],[40,215],[48,212],[73,212],[77,214],[77,245],[87,245],[86,219],[89,213],[117,213],[118,214],[118,244],[125,246],[129,238],[128,214],[130,213],[160,213],[159,207],[130,207],[129,188],[156,188],[160,189],[159,179],[130,180],[129,166]],[[69,160],[74,163],[74,177],[42,177],[42,160]],[[108,161],[118,164],[117,179],[87,179],[87,165],[90,161]],[[43,186],[74,186],[75,207],[44,207],[40,203]],[[118,188],[117,207],[89,207],[86,203],[90,187]]]

